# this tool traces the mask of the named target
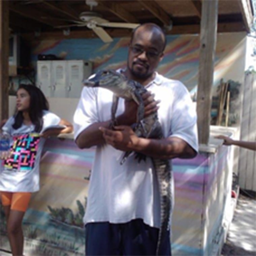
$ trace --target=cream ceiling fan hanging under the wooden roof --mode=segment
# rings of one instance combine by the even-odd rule
[[[101,17],[99,13],[92,11],[84,11],[80,13],[79,20],[72,20],[73,24],[56,26],[56,28],[70,28],[70,27],[87,27],[94,31],[94,33],[105,43],[112,42],[113,39],[102,28],[136,28],[137,23],[123,23],[123,22],[109,22]]]

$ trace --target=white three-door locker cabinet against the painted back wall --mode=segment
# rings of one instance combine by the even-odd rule
[[[37,86],[46,97],[79,98],[91,73],[92,63],[84,60],[37,61]]]

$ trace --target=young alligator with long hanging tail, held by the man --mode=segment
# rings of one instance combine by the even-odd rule
[[[135,134],[139,137],[161,139],[164,137],[161,124],[158,121],[157,112],[144,117],[144,103],[142,94],[147,92],[140,83],[127,79],[123,74],[107,69],[98,71],[93,77],[83,81],[86,87],[101,87],[113,92],[113,103],[111,106],[110,127],[116,125],[116,111],[119,97],[134,100],[138,104],[137,120],[132,126]],[[126,152],[121,160],[123,164],[131,152]],[[143,156],[137,154],[139,160]],[[146,156],[144,156],[146,158]],[[160,229],[157,241],[156,255],[159,255],[160,248],[165,238],[166,230],[169,230],[170,212],[172,207],[171,179],[172,170],[169,160],[151,158],[156,174],[160,192]]]

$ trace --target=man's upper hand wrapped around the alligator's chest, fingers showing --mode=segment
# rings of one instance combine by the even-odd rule
[[[158,104],[160,100],[154,99],[154,94],[151,92],[145,92],[142,94],[144,103],[144,117],[156,112],[159,108]],[[118,117],[118,123],[123,125],[132,125],[137,122],[137,110],[138,104],[133,100],[125,100],[125,111]]]

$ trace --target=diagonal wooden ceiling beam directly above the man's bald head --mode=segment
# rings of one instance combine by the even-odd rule
[[[158,20],[160,20],[164,26],[170,25],[170,17],[168,13],[162,9],[161,6],[157,3],[157,1],[144,1],[137,0],[145,9],[149,10]]]

